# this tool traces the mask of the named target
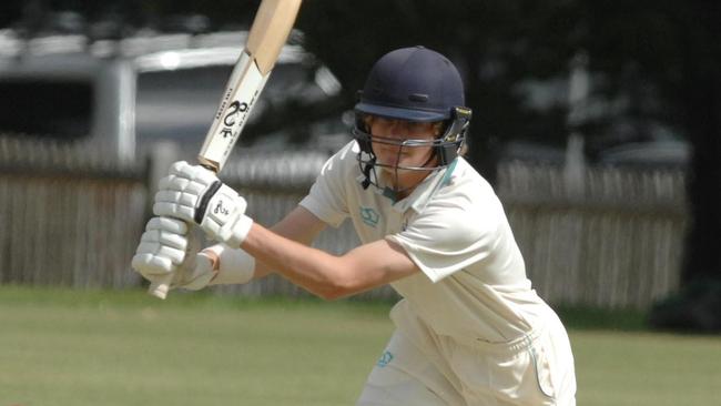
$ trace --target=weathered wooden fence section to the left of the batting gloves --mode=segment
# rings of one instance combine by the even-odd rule
[[[0,283],[123,287],[146,171],[82,145],[0,139]]]

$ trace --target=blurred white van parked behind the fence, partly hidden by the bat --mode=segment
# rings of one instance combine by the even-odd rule
[[[0,134],[87,142],[121,161],[142,159],[156,141],[196,152],[246,34],[140,33],[89,42],[82,35],[23,40],[0,30]],[[333,73],[301,45],[302,34],[291,37],[248,128],[264,122],[258,131],[275,135],[264,135],[266,142],[298,131],[344,132],[341,114],[311,126],[284,122],[282,114],[341,93]]]

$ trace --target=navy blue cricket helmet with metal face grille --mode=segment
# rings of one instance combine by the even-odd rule
[[[372,68],[355,105],[356,125],[353,131],[362,154],[366,177],[376,165],[372,142],[374,135],[366,125],[366,115],[414,122],[443,122],[444,131],[434,141],[398,141],[403,148],[434,146],[437,166],[396,168],[434,170],[453,162],[463,146],[470,122],[470,109],[465,106],[464,84],[456,67],[440,53],[424,47],[402,48],[383,55]],[[376,142],[377,142],[376,136]],[[385,141],[384,141],[385,142]],[[372,183],[370,181],[366,182]]]

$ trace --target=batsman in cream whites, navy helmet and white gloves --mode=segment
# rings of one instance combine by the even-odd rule
[[[354,140],[266,229],[213,172],[161,181],[133,268],[200,290],[277,273],[325,300],[390,284],[396,331],[357,405],[575,405],[566,329],[536,294],[504,209],[461,156],[471,112],[454,64],[423,47],[383,55],[355,105]],[[346,219],[362,245],[311,246]],[[197,253],[189,227],[219,242]]]

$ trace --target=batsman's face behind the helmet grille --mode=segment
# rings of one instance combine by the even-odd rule
[[[372,144],[373,152],[376,154],[376,162],[390,166],[382,166],[384,170],[395,171],[397,166],[435,166],[435,159],[431,160],[431,146],[402,145],[404,141],[408,140],[433,141],[437,134],[435,123],[419,123],[373,116],[368,124],[373,134]]]

